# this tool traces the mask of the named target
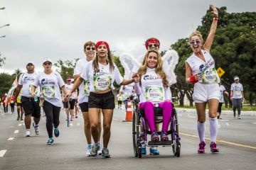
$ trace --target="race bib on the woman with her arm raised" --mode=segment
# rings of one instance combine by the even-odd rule
[[[215,68],[208,68],[202,73],[203,84],[217,84],[218,74]]]

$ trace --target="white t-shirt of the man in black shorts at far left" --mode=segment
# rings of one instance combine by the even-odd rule
[[[37,74],[34,72],[32,74],[24,73],[18,78],[18,85],[21,85],[21,96],[31,97],[31,88],[33,86],[33,82],[36,79]],[[40,89],[36,89],[36,96],[40,96]]]

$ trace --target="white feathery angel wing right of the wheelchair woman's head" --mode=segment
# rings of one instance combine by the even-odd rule
[[[176,52],[176,50],[168,50],[163,56],[163,62],[168,64],[166,74],[168,76],[170,85],[176,84],[176,75],[174,74],[174,69],[176,64],[178,64],[178,52]]]

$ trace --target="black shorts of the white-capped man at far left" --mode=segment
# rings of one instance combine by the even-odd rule
[[[25,96],[21,96],[21,103],[23,110],[25,111],[25,115],[32,115],[35,118],[41,117],[39,98],[38,101],[34,101],[34,98],[27,98]]]

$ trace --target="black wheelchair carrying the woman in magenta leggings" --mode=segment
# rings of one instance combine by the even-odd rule
[[[146,130],[146,120],[144,118],[144,110],[139,109],[139,96],[134,99],[134,111],[132,117],[132,142],[134,147],[134,156],[142,158],[142,137],[146,142],[147,147],[172,147],[172,152],[175,157],[180,157],[181,154],[181,137],[178,135],[178,116],[173,105],[173,111],[171,115],[171,122],[169,125],[169,130],[167,135],[171,135],[171,140],[168,141],[149,141],[147,142],[147,135],[151,135],[149,130]],[[174,98],[173,98],[174,99]],[[157,105],[154,107],[154,120],[155,124],[163,123],[162,120],[163,109],[159,108]],[[142,124],[144,131],[141,132],[140,125]],[[161,131],[157,132],[161,135]]]

